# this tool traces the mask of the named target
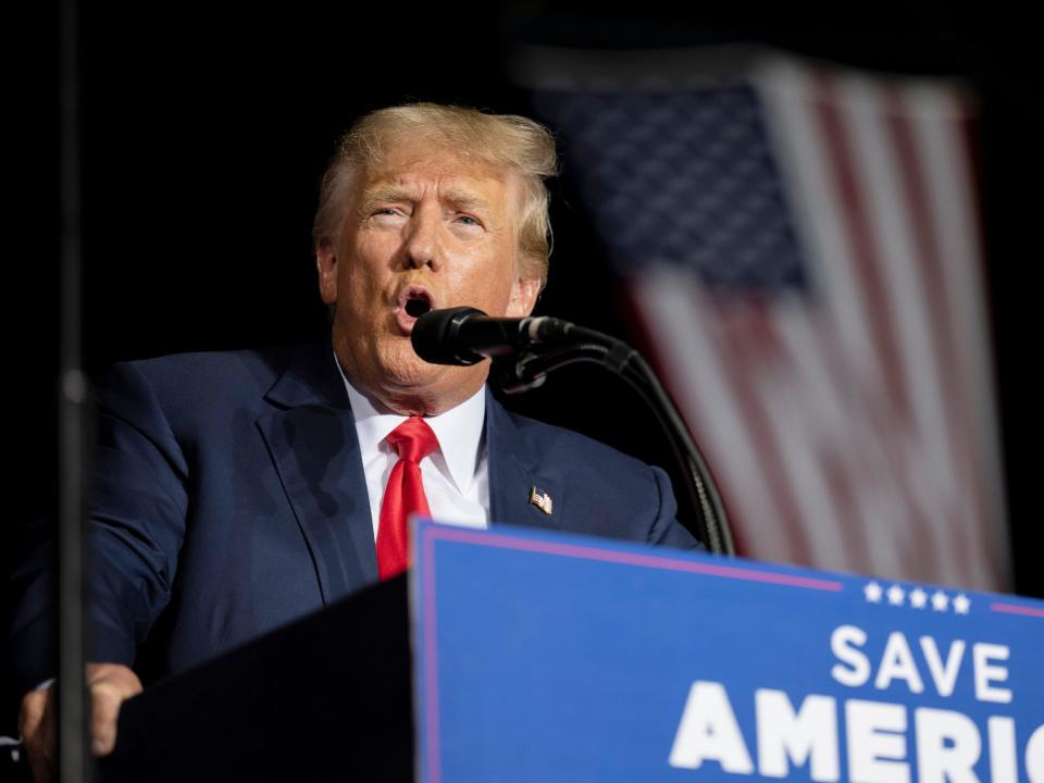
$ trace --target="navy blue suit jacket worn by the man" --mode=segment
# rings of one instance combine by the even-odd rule
[[[494,524],[695,546],[661,470],[487,399]],[[174,673],[377,581],[328,343],[117,364],[95,460],[90,660],[130,664],[148,637]]]

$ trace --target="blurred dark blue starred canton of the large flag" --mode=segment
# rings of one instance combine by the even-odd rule
[[[624,274],[691,269],[722,294],[808,288],[754,90],[543,92],[600,235]]]

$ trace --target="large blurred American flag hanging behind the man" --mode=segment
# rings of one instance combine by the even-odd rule
[[[674,70],[558,70],[535,103],[741,554],[1008,589],[969,94]]]

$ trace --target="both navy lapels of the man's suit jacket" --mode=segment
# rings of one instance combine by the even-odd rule
[[[326,606],[377,581],[373,520],[355,419],[328,343],[297,350],[258,419]],[[490,523],[559,530],[568,514],[557,478],[539,468],[539,452],[504,407],[486,395],[486,453]],[[530,502],[546,493],[554,512]]]

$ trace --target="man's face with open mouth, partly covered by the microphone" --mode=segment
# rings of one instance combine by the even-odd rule
[[[518,175],[432,142],[399,141],[361,170],[336,243],[316,253],[334,348],[349,377],[402,413],[439,413],[478,390],[488,362],[428,364],[415,315],[467,304],[529,315],[539,279],[520,272]]]

